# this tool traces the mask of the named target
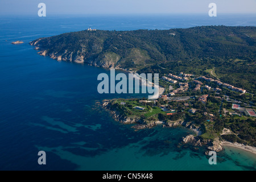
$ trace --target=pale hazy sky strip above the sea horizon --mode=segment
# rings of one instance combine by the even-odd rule
[[[0,14],[35,14],[46,3],[47,14],[256,13],[256,0],[0,0]]]

